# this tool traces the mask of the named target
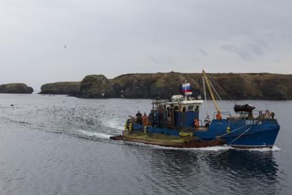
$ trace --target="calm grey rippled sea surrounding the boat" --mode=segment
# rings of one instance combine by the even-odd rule
[[[276,113],[272,150],[111,141],[150,100],[0,94],[0,194],[291,194],[292,102],[245,103]]]

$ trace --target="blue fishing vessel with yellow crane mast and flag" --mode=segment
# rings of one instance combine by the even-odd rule
[[[171,100],[153,100],[149,117],[141,114],[129,117],[122,135],[114,140],[132,141],[174,148],[200,148],[228,145],[234,148],[272,148],[280,130],[275,114],[268,110],[256,111],[250,104],[234,105],[236,115],[221,112],[217,100],[221,98],[215,86],[223,90],[208,74],[202,72],[204,100],[193,98],[189,83],[182,84],[183,95]],[[210,93],[216,112],[204,121],[199,111]]]

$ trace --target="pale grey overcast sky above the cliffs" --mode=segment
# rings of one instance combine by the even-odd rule
[[[38,91],[94,73],[292,73],[291,8],[276,0],[1,0],[0,83]]]

